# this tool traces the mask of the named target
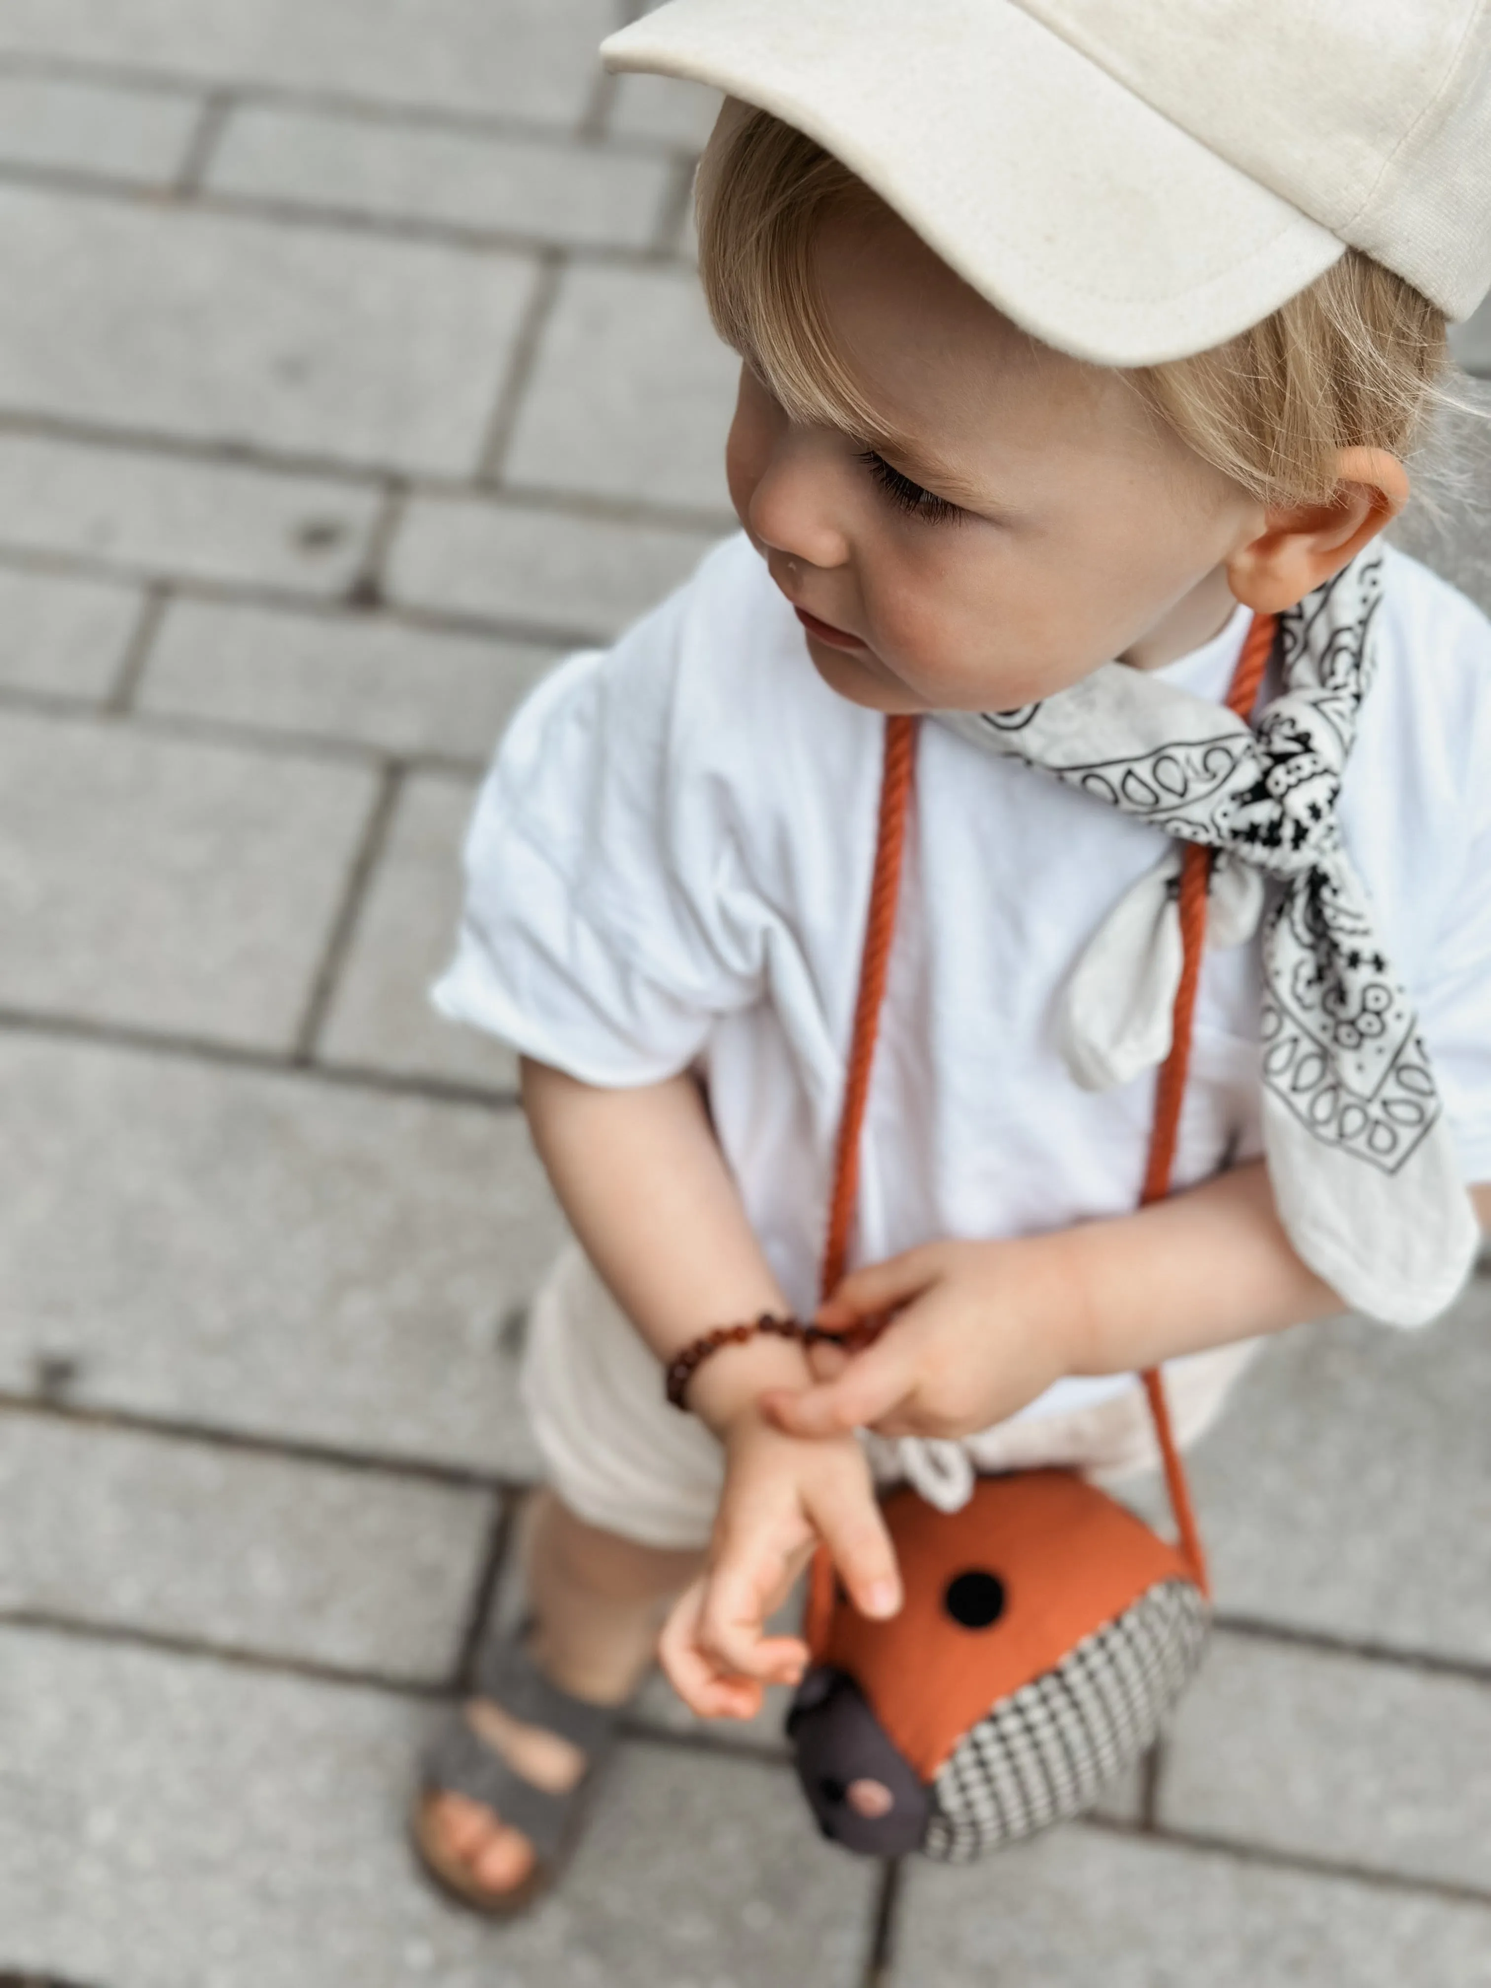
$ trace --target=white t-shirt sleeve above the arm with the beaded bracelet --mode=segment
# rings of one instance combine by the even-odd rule
[[[451,1020],[584,1083],[656,1083],[753,1002],[728,809],[688,765],[686,594],[608,654],[555,670],[513,718],[465,845]]]

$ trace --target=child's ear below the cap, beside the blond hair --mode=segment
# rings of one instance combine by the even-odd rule
[[[1330,503],[1266,511],[1264,529],[1227,561],[1227,582],[1254,614],[1282,614],[1356,559],[1408,503],[1408,471],[1388,449],[1342,449]]]

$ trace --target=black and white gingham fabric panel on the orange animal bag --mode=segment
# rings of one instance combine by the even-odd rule
[[[1201,1590],[1161,1580],[1046,1676],[1000,1700],[932,1785],[926,1855],[972,1863],[1091,1807],[1153,1745],[1205,1642]]]

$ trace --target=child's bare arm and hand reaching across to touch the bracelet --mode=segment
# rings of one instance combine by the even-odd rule
[[[1491,1221],[1491,1187],[1471,1193]],[[1340,1298],[1294,1254],[1258,1161],[1117,1221],[928,1242],[847,1276],[819,1318],[843,1328],[893,1310],[869,1352],[763,1400],[777,1427],[970,1435],[1064,1374],[1127,1374],[1282,1332]]]

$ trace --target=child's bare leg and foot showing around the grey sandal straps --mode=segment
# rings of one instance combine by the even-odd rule
[[[577,1519],[551,1491],[537,1495],[525,1519],[523,1569],[535,1662],[575,1698],[622,1704],[652,1662],[662,1618],[698,1573],[700,1553],[640,1547],[604,1533]],[[521,1724],[501,1706],[473,1700],[467,1720],[537,1787],[561,1795],[584,1773],[579,1747]],[[513,1891],[533,1869],[529,1839],[465,1795],[429,1795],[425,1821],[435,1847],[463,1865],[483,1891]]]

